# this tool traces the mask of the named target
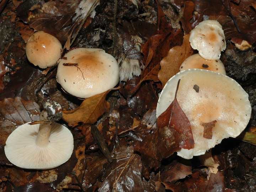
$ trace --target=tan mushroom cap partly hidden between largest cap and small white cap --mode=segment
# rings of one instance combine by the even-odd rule
[[[206,69],[226,75],[225,66],[221,60],[204,59],[198,53],[185,59],[181,64],[179,71],[184,71],[186,69]]]

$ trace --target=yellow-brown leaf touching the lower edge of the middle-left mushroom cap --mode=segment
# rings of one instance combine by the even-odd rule
[[[100,116],[108,112],[110,104],[106,101],[106,95],[111,90],[86,98],[75,110],[62,111],[62,119],[69,126],[78,126],[80,122],[84,124],[94,124]]]

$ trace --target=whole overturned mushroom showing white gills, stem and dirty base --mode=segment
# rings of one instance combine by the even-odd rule
[[[25,123],[16,128],[6,140],[5,155],[23,169],[50,169],[68,161],[74,148],[73,135],[65,126],[52,122],[62,111],[49,102],[41,114],[41,124]],[[51,112],[49,112],[51,111]]]

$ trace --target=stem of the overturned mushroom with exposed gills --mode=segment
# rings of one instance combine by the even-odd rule
[[[40,121],[45,121],[47,119],[47,111],[43,110],[40,113]],[[50,131],[52,128],[52,122],[45,122],[41,123],[39,126],[38,134],[37,134],[37,139],[36,139],[36,144],[38,146],[46,146],[49,144],[49,136],[50,136]]]

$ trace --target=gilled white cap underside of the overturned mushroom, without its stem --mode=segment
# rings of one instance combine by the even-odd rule
[[[5,155],[23,169],[50,169],[68,161],[74,148],[73,135],[65,126],[52,122],[49,144],[36,145],[39,124],[23,124],[6,140]]]

